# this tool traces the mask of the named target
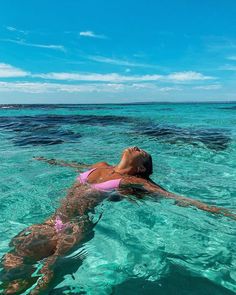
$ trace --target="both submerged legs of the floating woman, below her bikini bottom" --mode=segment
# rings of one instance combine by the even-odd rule
[[[54,276],[54,267],[59,257],[84,241],[94,227],[88,216],[81,217],[76,223],[56,233],[48,225],[33,225],[14,237],[12,252],[2,259],[3,294],[20,294],[35,284],[30,294],[45,290]],[[34,265],[42,261],[42,268],[35,272]]]

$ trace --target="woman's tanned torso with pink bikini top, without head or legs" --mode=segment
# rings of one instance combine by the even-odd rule
[[[135,194],[142,198],[143,191],[129,187],[129,184],[135,183],[136,179],[135,176],[115,172],[114,167],[107,163],[94,167],[78,176],[78,181],[62,200],[56,215],[59,215],[63,222],[76,216],[83,216],[105,198],[110,197],[112,191],[118,191],[117,195],[120,196]]]

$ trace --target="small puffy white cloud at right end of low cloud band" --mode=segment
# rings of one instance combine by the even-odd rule
[[[169,74],[167,79],[174,82],[188,82],[188,81],[201,81],[201,80],[212,80],[215,77],[205,76],[198,72],[186,71],[186,72],[175,72]]]

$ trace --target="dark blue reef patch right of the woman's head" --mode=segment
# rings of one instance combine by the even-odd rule
[[[190,144],[200,146],[204,144],[211,150],[225,150],[231,138],[227,130],[180,128],[175,126],[149,125],[138,129],[138,133],[170,144]]]

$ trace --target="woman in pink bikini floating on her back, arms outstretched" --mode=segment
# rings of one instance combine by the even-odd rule
[[[137,193],[139,198],[149,193],[153,198],[174,199],[179,206],[194,206],[236,219],[236,215],[226,209],[175,195],[154,183],[150,179],[152,157],[138,147],[125,149],[116,166],[106,162],[83,165],[43,157],[35,159],[78,170],[90,169],[79,175],[51,218],[26,228],[12,239],[12,250],[2,259],[4,294],[22,293],[29,287],[30,294],[39,294],[47,288],[53,278],[53,269],[58,258],[88,239],[92,233],[94,223],[89,219],[88,213],[105,198],[111,197],[109,192],[113,190],[117,191],[113,195],[116,200],[130,193]],[[43,262],[40,274],[32,276],[35,271],[33,265],[40,260]]]

